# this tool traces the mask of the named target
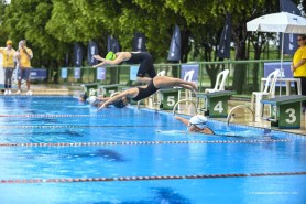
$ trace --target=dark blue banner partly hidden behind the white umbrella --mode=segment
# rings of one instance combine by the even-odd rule
[[[280,10],[300,15],[300,10],[291,0],[280,0]],[[298,49],[297,36],[298,34],[284,34],[284,54],[294,55],[295,51]],[[282,34],[280,35],[280,44],[282,44]]]

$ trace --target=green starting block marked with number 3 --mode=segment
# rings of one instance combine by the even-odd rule
[[[306,96],[291,95],[261,100],[261,118],[271,121],[272,127],[280,129],[300,128],[300,106]],[[271,117],[264,117],[264,105],[270,105]]]

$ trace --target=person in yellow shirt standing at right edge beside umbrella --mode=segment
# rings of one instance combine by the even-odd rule
[[[306,35],[300,34],[297,36],[299,47],[293,56],[291,69],[295,78],[300,78],[302,95],[306,96]],[[297,84],[295,83],[295,90],[297,94]],[[303,112],[306,109],[306,100],[303,101]]]

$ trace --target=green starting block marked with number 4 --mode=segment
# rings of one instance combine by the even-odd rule
[[[204,115],[211,118],[226,118],[228,117],[228,100],[233,94],[236,92],[232,90],[197,94],[197,109],[204,110]],[[204,108],[199,108],[200,98],[204,99]]]

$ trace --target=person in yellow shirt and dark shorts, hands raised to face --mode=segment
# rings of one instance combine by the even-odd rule
[[[32,95],[30,90],[30,74],[31,74],[31,58],[33,58],[33,52],[31,49],[26,47],[25,40],[19,42],[19,49],[17,51],[15,57],[18,60],[18,92],[21,94],[21,80],[26,80],[26,95]]]

